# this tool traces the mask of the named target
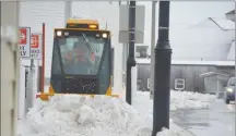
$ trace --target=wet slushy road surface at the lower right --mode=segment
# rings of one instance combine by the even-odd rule
[[[235,136],[235,104],[217,100],[210,110],[172,111],[173,121],[197,136]]]

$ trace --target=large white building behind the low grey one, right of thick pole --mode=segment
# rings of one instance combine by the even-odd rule
[[[235,39],[235,24],[226,18],[209,17],[170,36],[173,59],[224,61]]]

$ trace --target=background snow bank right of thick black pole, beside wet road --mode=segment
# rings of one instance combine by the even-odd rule
[[[209,94],[172,90],[170,110],[208,109],[215,100],[216,97]]]

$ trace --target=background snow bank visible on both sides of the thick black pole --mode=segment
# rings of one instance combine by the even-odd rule
[[[169,108],[172,111],[180,109],[209,109],[215,100],[215,95],[170,90]],[[137,91],[133,104],[140,112],[149,111],[152,113],[153,100],[150,99],[150,92],[148,91]]]

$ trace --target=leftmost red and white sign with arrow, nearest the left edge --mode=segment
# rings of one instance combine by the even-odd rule
[[[30,27],[20,27],[20,41],[19,41],[19,49],[20,49],[20,57],[31,58],[31,28]]]

